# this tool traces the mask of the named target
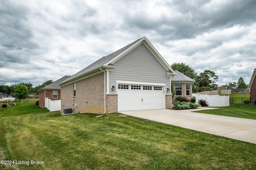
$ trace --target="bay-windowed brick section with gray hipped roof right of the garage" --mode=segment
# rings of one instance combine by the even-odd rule
[[[195,82],[195,80],[179,72],[178,70],[175,70],[174,72],[177,74],[171,78],[176,91],[174,100],[176,96],[184,96],[190,100],[192,98],[192,84]]]

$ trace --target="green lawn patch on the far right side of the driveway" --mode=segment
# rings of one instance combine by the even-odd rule
[[[256,119],[256,105],[251,104],[230,104],[229,107],[218,107],[219,109],[195,111],[197,113],[208,113],[212,115],[223,115]]]

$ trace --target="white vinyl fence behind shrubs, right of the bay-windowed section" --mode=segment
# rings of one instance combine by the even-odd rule
[[[218,96],[218,95],[207,95],[207,94],[192,94],[196,97],[196,102],[198,100],[206,100],[211,107],[225,107],[229,106],[229,96]]]

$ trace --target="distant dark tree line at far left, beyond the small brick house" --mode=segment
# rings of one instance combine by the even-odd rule
[[[38,94],[38,90],[40,90],[41,88],[44,88],[45,86],[51,84],[53,81],[52,80],[48,80],[46,82],[43,82],[43,84],[38,85],[36,87],[33,87],[33,85],[31,83],[19,83],[19,84],[23,84],[24,86],[26,86],[27,90],[28,90],[28,94],[30,93],[34,93],[34,94]],[[0,85],[0,92],[4,93],[4,94],[11,94],[14,93],[14,89],[16,86],[18,86],[19,84],[12,84],[10,86],[8,85]]]

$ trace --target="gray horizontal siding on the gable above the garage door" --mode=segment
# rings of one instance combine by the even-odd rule
[[[115,93],[111,84],[116,84],[116,80],[164,83],[170,87],[166,69],[143,43],[113,64],[115,68],[109,72],[110,93]]]

